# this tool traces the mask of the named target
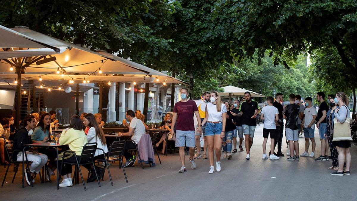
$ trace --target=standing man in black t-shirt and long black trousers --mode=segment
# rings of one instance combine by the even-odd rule
[[[283,153],[281,152],[281,144],[283,140],[283,130],[284,130],[284,122],[283,122],[283,106],[282,102],[284,100],[284,95],[282,93],[277,93],[276,94],[276,100],[273,103],[273,106],[278,109],[279,112],[279,121],[278,124],[276,124],[276,130],[277,130],[277,135],[276,135],[276,140],[274,141],[274,148],[278,144],[278,153],[276,153],[276,156],[283,157]],[[270,155],[270,153],[269,153]]]

